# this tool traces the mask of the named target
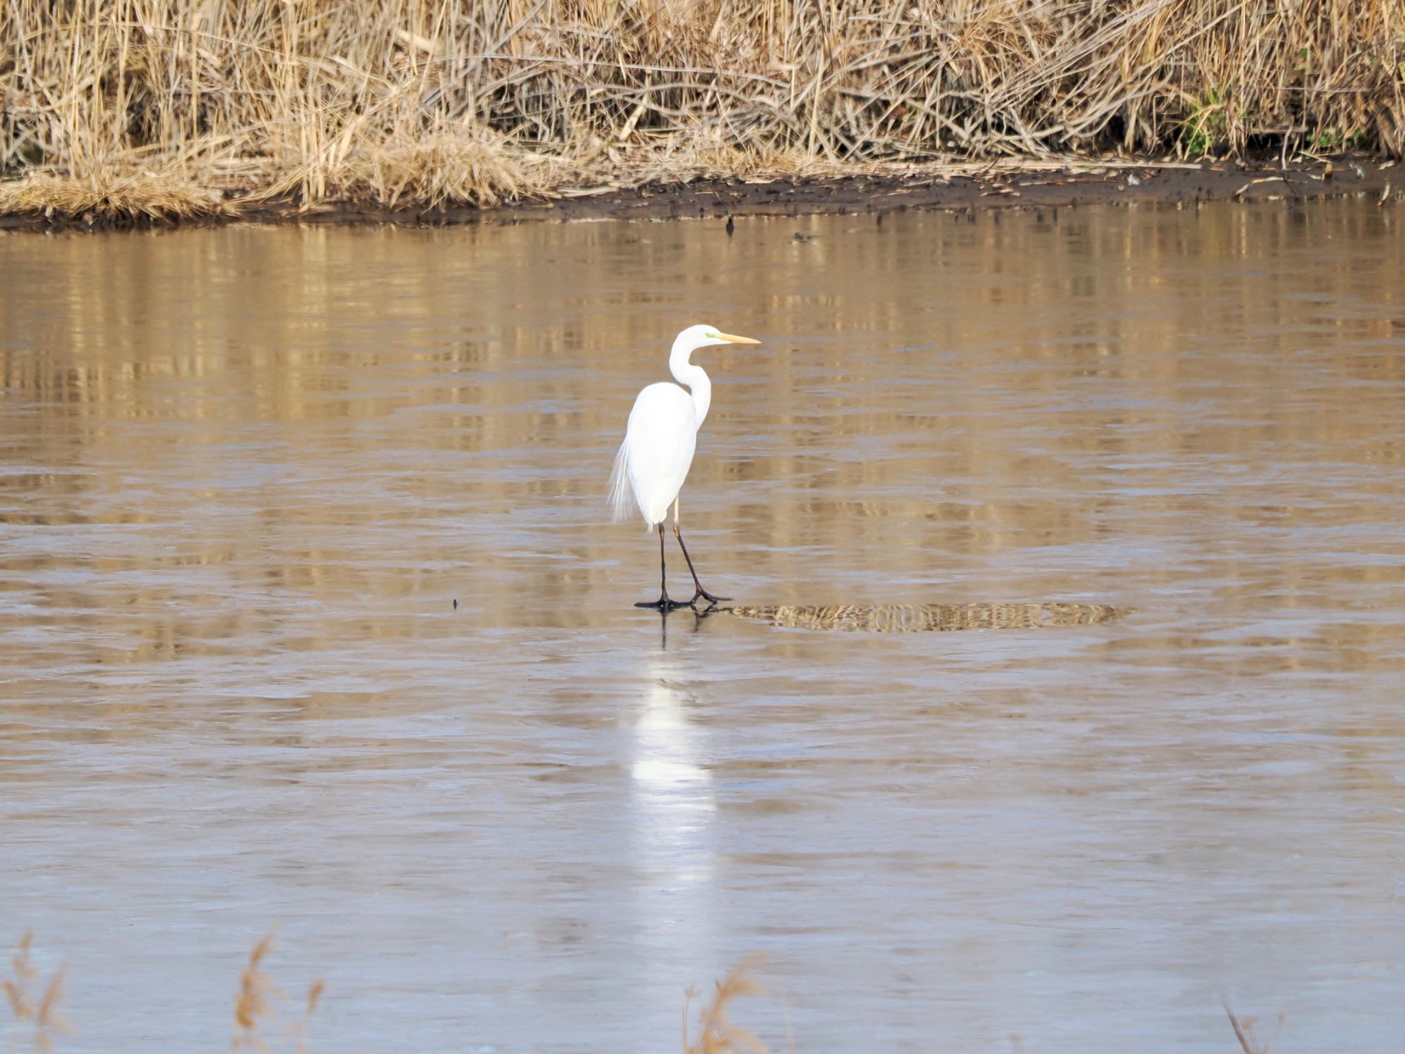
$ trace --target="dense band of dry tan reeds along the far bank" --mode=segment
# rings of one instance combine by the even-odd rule
[[[1398,0],[3,0],[0,212],[1405,146]]]

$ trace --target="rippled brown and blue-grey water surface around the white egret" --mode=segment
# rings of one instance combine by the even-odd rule
[[[63,1051],[226,1046],[274,923],[312,1051],[676,1050],[752,951],[783,1050],[1397,1050],[1402,291],[1354,201],[0,238],[0,939]],[[695,320],[763,617],[604,505]],[[1125,614],[764,617],[887,604]]]

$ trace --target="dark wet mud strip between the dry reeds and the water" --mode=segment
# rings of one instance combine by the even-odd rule
[[[1385,159],[1336,157],[1331,163],[1158,164],[1107,162],[1068,167],[962,166],[903,174],[825,178],[708,178],[565,191],[551,200],[504,202],[490,208],[385,208],[341,202],[302,211],[274,201],[236,216],[93,221],[42,214],[0,216],[0,229],[84,230],[152,226],[253,223],[391,223],[454,226],[570,219],[725,219],[726,216],[802,216],[889,214],[906,209],[1044,209],[1080,205],[1190,205],[1211,201],[1368,198],[1381,207],[1405,201],[1405,166]],[[229,202],[236,205],[236,202]],[[236,205],[237,207],[237,205]]]

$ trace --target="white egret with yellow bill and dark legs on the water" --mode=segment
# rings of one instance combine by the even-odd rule
[[[688,557],[688,547],[683,544],[683,531],[679,530],[679,490],[688,475],[693,464],[693,451],[697,447],[698,429],[707,420],[708,406],[712,405],[712,382],[702,367],[688,361],[691,354],[700,347],[714,344],[760,344],[760,340],[750,337],[733,337],[731,333],[719,333],[712,326],[688,326],[679,333],[669,353],[669,372],[679,384],[660,381],[651,384],[634,401],[629,410],[629,424],[624,431],[624,443],[615,454],[614,472],[610,474],[610,503],[614,506],[615,520],[622,520],[629,514],[629,499],[639,507],[643,516],[645,530],[659,528],[659,599],[653,603],[641,603],[635,607],[656,607],[669,611],[674,607],[695,606],[698,597],[715,604],[728,597],[712,596],[693,569],[693,558]],[[687,385],[691,391],[684,391],[679,385]],[[679,540],[683,549],[683,559],[688,562],[688,573],[693,575],[693,586],[697,592],[684,604],[680,600],[669,600],[669,578],[663,562],[663,521],[669,516],[669,506],[673,506],[673,537]]]

